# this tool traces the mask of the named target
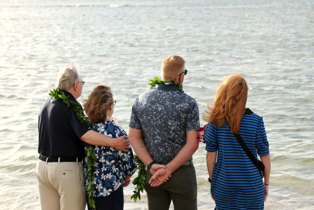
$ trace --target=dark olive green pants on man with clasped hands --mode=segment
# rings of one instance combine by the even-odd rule
[[[146,169],[145,191],[149,210],[168,210],[173,202],[175,210],[197,209],[197,182],[192,165],[179,167],[164,184],[152,187],[148,184],[152,174]]]

